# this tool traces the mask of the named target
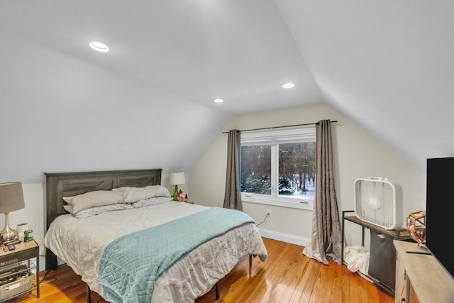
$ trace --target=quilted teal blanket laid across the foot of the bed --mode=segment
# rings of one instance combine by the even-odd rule
[[[248,222],[255,221],[243,211],[211,207],[112,241],[99,265],[104,299],[150,302],[155,281],[170,266],[197,246]]]

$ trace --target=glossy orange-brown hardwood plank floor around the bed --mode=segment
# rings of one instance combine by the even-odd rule
[[[214,288],[196,299],[206,302],[314,302],[314,303],[394,303],[394,296],[350,272],[345,265],[323,265],[302,255],[302,246],[263,238],[268,257],[265,262],[245,260],[219,282],[218,301]],[[41,272],[43,279],[45,272]],[[67,265],[45,276],[40,298],[33,291],[12,302],[87,302],[87,285]],[[93,303],[105,303],[92,292]]]

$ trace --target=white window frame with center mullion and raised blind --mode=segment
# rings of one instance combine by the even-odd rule
[[[271,194],[267,195],[241,192],[241,200],[243,202],[284,206],[295,209],[314,209],[313,199],[279,196],[277,194],[276,184],[279,177],[279,150],[277,150],[277,144],[315,142],[315,127],[293,128],[279,131],[257,131],[240,133],[240,137],[241,146],[271,145]]]

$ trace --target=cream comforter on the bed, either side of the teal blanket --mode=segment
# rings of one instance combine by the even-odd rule
[[[104,248],[111,241],[204,209],[207,207],[171,201],[112,211],[87,219],[66,214],[52,222],[45,234],[44,245],[70,265],[92,290],[102,295],[102,286],[97,280],[99,262]],[[172,265],[157,279],[151,303],[194,302],[226,276],[245,255],[258,255],[262,261],[267,257],[255,224],[228,231]]]

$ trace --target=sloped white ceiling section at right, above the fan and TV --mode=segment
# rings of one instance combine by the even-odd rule
[[[323,100],[421,170],[454,156],[454,1],[277,5]]]

